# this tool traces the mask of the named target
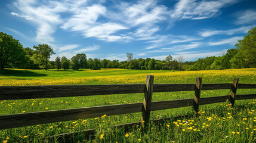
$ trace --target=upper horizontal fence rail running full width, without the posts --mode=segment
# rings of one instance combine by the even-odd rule
[[[131,85],[44,85],[0,86],[0,100],[80,97],[110,94],[144,93],[145,84]],[[206,83],[202,90],[230,89],[232,83]],[[256,88],[256,84],[238,84],[238,89]],[[195,84],[154,84],[153,92],[194,91]]]

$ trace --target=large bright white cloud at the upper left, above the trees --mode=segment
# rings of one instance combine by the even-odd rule
[[[67,11],[68,9],[57,1],[51,1],[45,5],[35,5],[38,3],[36,0],[22,1],[17,0],[13,3],[13,6],[22,13],[12,13],[18,17],[32,20],[33,24],[36,24],[36,41],[39,43],[51,43],[54,42],[53,34],[57,25],[61,23],[61,18],[58,13]]]

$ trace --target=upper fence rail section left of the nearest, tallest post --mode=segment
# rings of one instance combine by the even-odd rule
[[[0,100],[144,93],[145,84],[0,86]]]

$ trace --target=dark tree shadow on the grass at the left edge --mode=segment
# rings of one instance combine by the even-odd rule
[[[0,70],[0,76],[24,76],[24,77],[33,77],[33,76],[47,76],[47,74],[43,73],[35,73],[30,70],[11,70],[11,69],[5,69]]]

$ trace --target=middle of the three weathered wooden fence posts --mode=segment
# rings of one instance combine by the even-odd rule
[[[199,109],[199,100],[201,95],[201,89],[202,89],[202,77],[196,77],[196,86],[195,86],[195,96],[193,101],[193,108],[198,113]]]

